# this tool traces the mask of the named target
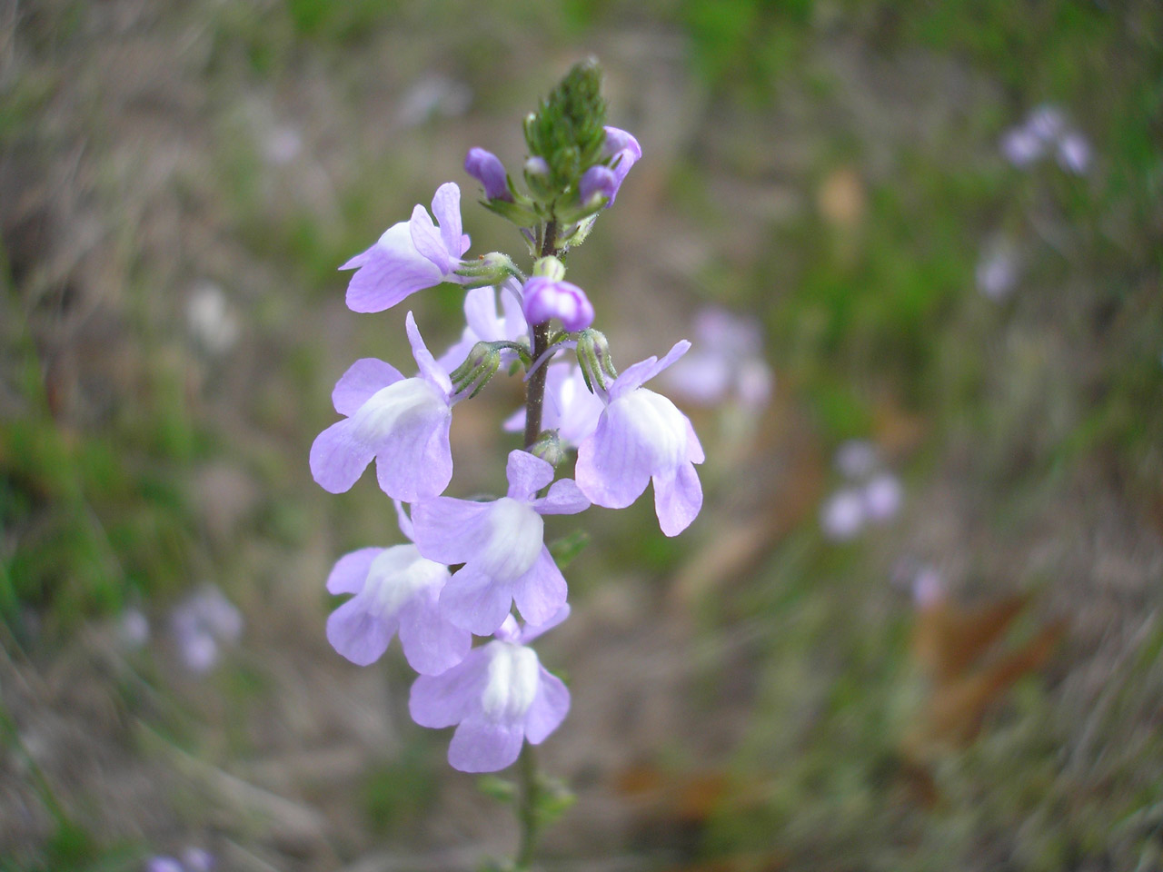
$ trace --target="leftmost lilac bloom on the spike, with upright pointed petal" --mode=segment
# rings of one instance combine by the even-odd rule
[[[311,446],[311,474],[323,489],[349,489],[372,458],[380,488],[405,502],[435,496],[452,478],[452,384],[424,346],[411,312],[407,331],[419,376],[406,379],[391,364],[365,357],[335,385],[331,402],[347,417]]]

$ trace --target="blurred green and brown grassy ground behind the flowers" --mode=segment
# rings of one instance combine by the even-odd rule
[[[584,516],[544,866],[1163,869],[1161,40],[1147,0],[0,2],[0,869],[512,850],[394,651],[327,645],[331,563],[399,539],[306,457],[352,359],[407,362],[337,265],[448,179],[472,252],[520,251],[464,152],[516,167],[588,53],[644,151],[571,263],[597,326],[625,366],[749,314],[776,389],[685,406],[684,536]],[[1083,174],[999,151],[1043,103]],[[434,346],[459,299],[409,301]],[[454,488],[498,486],[518,401],[457,407]],[[851,438],[904,508],[835,542]],[[207,582],[245,628],[198,674],[171,615]]]

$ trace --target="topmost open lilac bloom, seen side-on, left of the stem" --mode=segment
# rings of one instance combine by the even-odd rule
[[[433,215],[438,229],[418,203],[409,221],[392,224],[374,245],[340,267],[356,270],[348,283],[348,308],[383,312],[416,291],[459,281],[455,271],[469,237],[461,233],[461,188],[454,183],[436,188]]]

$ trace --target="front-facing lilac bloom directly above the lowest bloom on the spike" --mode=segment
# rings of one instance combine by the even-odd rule
[[[571,479],[555,481],[554,467],[525,451],[506,466],[508,494],[492,502],[437,496],[412,509],[420,553],[443,564],[463,563],[441,593],[440,605],[457,627],[478,636],[493,632],[516,601],[529,623],[544,623],[565,602],[561,570],[544,545],[542,515],[573,515],[585,499]]]

